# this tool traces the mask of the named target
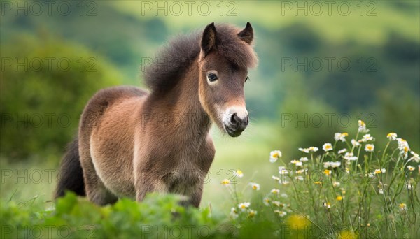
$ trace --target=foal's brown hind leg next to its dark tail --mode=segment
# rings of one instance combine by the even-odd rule
[[[116,203],[116,201],[118,201],[118,197],[106,189],[104,183],[97,175],[92,158],[90,157],[90,152],[80,152],[80,163],[83,168],[85,191],[89,201],[97,205]]]

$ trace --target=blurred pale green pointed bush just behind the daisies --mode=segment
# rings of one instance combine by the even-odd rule
[[[276,124],[279,136],[286,142],[285,145],[281,145],[286,155],[301,155],[297,147],[315,146],[322,150],[320,143],[333,144],[335,132],[352,130],[349,127],[355,123],[348,122],[347,115],[339,115],[327,103],[309,94],[302,75],[294,73],[287,77],[293,80],[285,84],[288,92],[279,107]]]

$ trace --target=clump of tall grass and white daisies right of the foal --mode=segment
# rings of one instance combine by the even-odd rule
[[[345,142],[332,139],[333,148],[328,152],[302,152],[308,161],[289,163],[276,157],[272,166],[284,167],[283,173],[273,175],[277,180],[268,173],[265,180],[249,180],[247,174],[253,171],[245,171],[246,179],[237,178],[237,184],[225,186],[232,197],[230,217],[238,225],[247,225],[250,217],[255,217],[253,225],[267,224],[270,232],[261,228],[250,231],[255,236],[417,238],[419,155],[410,154],[401,139],[389,140],[384,149],[368,152],[366,145],[374,145],[375,139],[362,140],[363,135],[354,133]],[[350,137],[360,145],[353,146]],[[356,160],[338,153],[343,148]],[[402,152],[407,152],[407,157]],[[330,161],[339,166],[325,166]],[[250,181],[258,183],[258,189],[251,189]],[[240,203],[250,205],[242,208]]]

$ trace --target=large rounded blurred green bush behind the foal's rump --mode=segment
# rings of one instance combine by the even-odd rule
[[[62,152],[83,107],[121,75],[75,43],[20,34],[1,44],[1,156],[24,159]]]

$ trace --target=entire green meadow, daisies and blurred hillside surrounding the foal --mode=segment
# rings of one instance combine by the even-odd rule
[[[354,1],[345,17],[282,15],[276,1],[237,1],[234,17],[216,1],[207,17],[89,2],[94,16],[1,15],[1,238],[420,236],[419,2],[372,1],[367,16]],[[168,38],[212,21],[251,22],[260,64],[246,82],[246,131],[211,131],[216,158],[201,208],[153,194],[103,208],[73,194],[52,202],[59,159],[92,94],[142,86]]]

